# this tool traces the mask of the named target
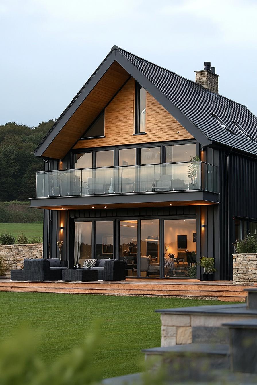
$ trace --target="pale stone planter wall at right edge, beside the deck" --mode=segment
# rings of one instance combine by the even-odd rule
[[[257,254],[233,254],[233,285],[254,286],[257,282]]]

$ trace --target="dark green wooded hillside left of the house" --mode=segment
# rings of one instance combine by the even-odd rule
[[[44,170],[34,150],[55,119],[29,127],[16,122],[0,126],[0,202],[28,201],[35,197],[36,171]]]

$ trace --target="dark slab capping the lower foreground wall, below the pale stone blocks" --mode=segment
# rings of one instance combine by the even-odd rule
[[[163,346],[161,348],[143,349],[143,353],[148,355],[168,355],[169,353],[176,353],[176,356],[188,355],[195,353],[199,355],[228,355],[229,346],[215,343],[189,343],[185,345]]]

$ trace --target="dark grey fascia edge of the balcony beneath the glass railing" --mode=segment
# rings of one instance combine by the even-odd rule
[[[103,194],[86,196],[66,196],[66,197],[46,197],[30,198],[30,207],[47,208],[49,206],[60,208],[63,206],[97,206],[114,204],[140,204],[140,203],[163,203],[164,205],[172,202],[205,201],[208,203],[218,203],[219,194],[209,191],[171,191],[171,192],[148,192],[134,194]]]

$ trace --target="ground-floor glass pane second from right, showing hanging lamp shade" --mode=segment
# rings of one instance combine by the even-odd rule
[[[140,225],[140,276],[160,277],[160,221],[142,219]]]

